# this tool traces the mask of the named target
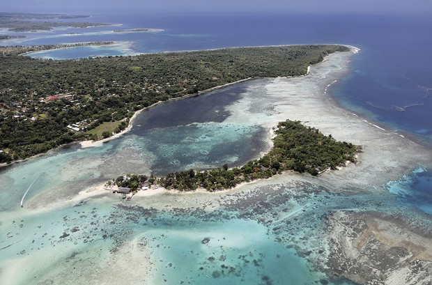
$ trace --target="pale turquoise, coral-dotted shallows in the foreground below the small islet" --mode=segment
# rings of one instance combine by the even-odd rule
[[[145,284],[286,284],[287,278],[290,284],[350,284],[329,281],[305,257],[325,250],[316,227],[322,215],[336,203],[349,208],[355,201],[358,208],[362,197],[347,200],[298,183],[259,187],[250,196],[232,198],[222,199],[222,208],[215,211],[155,210],[110,196],[37,215],[3,215],[2,226],[8,231],[1,233],[0,250],[8,262],[2,264],[2,278],[13,278],[10,284],[77,282],[83,278],[78,276],[82,268],[105,264],[121,247],[137,242],[149,253],[141,258],[153,265],[145,274],[130,275]],[[271,208],[263,208],[263,203]],[[64,272],[68,265],[78,272]],[[13,276],[17,266],[24,275]]]

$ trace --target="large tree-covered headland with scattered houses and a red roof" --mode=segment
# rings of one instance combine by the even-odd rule
[[[249,77],[304,75],[339,45],[247,47],[92,59],[31,59],[43,47],[0,47],[0,162],[83,139],[103,122]],[[5,158],[6,156],[6,158]]]

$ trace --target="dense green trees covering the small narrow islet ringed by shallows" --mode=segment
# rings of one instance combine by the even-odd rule
[[[316,176],[327,169],[345,166],[347,161],[355,162],[355,153],[359,149],[346,141],[336,141],[331,135],[325,136],[316,128],[302,125],[299,121],[279,123],[275,134],[273,148],[259,160],[233,169],[228,169],[224,164],[222,168],[206,171],[178,171],[157,179],[157,183],[167,189],[191,191],[202,187],[214,192],[242,182],[270,178],[282,171],[307,172]],[[124,179],[119,176],[113,182],[136,190],[139,187],[137,177],[132,175]]]

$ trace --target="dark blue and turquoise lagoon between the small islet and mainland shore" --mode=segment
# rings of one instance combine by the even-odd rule
[[[155,157],[151,162],[155,174],[242,165],[270,147],[265,142],[268,130],[249,120],[247,114],[254,111],[242,114],[236,107],[244,101],[249,86],[265,82],[268,80],[254,80],[156,105],[134,121],[130,140]],[[252,101],[260,96],[259,92],[247,93]]]

